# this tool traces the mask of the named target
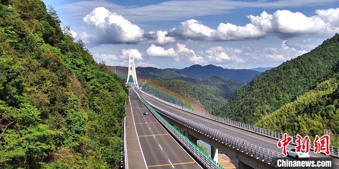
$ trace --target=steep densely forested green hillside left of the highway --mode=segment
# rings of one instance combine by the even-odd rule
[[[111,169],[121,160],[123,81],[60,22],[41,0],[0,0],[0,168]]]

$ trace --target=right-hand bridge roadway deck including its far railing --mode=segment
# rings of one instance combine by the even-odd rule
[[[142,93],[140,92],[139,94],[142,94]],[[232,137],[236,137],[237,139],[247,141],[249,143],[255,144],[262,148],[281,154],[281,149],[277,147],[277,140],[274,140],[274,139],[271,139],[271,138],[268,138],[268,137],[265,137],[259,134],[255,134],[255,133],[252,133],[250,131],[243,130],[240,128],[231,127],[231,126],[228,126],[228,125],[225,125],[225,124],[222,124],[222,123],[219,123],[219,122],[216,122],[216,121],[213,121],[213,120],[210,120],[210,119],[207,119],[207,118],[204,118],[204,117],[192,114],[192,113],[188,113],[183,110],[171,107],[170,105],[164,104],[147,95],[144,95],[144,94],[142,95],[147,101],[151,102],[155,106],[161,107],[171,113],[175,113],[188,120],[194,121],[196,123],[200,123],[201,125],[204,125],[206,127],[216,129],[217,131],[225,133]],[[294,145],[288,146],[288,150],[292,148],[294,148]],[[319,157],[319,158],[326,159],[326,157],[329,157],[329,156],[324,155],[324,154],[314,154],[312,151],[310,151],[310,157]],[[332,158],[332,165],[334,165],[334,167],[339,168],[339,159]]]

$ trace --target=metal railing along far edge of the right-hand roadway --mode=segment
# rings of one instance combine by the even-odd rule
[[[264,129],[264,128],[261,128],[261,127],[256,127],[256,126],[253,126],[253,125],[247,125],[245,123],[240,123],[240,122],[237,122],[237,121],[234,121],[234,120],[225,119],[225,118],[213,115],[213,114],[202,113],[202,112],[199,112],[199,111],[196,111],[196,110],[192,110],[192,109],[189,109],[189,108],[186,108],[186,107],[183,107],[183,106],[179,106],[179,105],[170,103],[168,101],[159,99],[159,98],[157,98],[153,95],[145,93],[142,90],[140,90],[140,91],[142,93],[144,93],[145,95],[152,97],[152,98],[154,98],[154,99],[156,99],[156,100],[158,100],[158,101],[160,101],[164,104],[170,105],[172,107],[175,107],[177,109],[183,110],[183,111],[188,112],[188,113],[193,113],[195,115],[199,115],[201,117],[205,117],[205,118],[208,118],[210,120],[214,120],[214,121],[217,121],[217,122],[220,122],[220,123],[232,126],[232,127],[241,128],[241,129],[244,129],[244,130],[256,133],[256,134],[260,134],[262,136],[269,137],[269,138],[272,138],[272,139],[275,139],[275,140],[283,140],[283,138],[284,138],[284,134],[277,132],[277,131],[272,131],[272,130]],[[292,137],[293,137],[293,141],[291,143],[293,145],[297,145],[297,143],[296,143],[297,138],[295,136],[292,136]],[[311,150],[314,150],[314,143],[312,141],[309,142],[309,148]],[[339,147],[330,146],[330,152],[331,152],[331,156],[339,157]]]

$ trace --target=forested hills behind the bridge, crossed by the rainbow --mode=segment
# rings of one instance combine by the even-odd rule
[[[108,68],[113,71],[116,69],[117,72],[127,75],[127,67],[108,66]],[[227,100],[242,85],[223,76],[200,78],[181,73],[177,69],[138,67],[136,70],[139,83],[144,78],[147,79],[149,85],[142,87],[145,92],[175,104],[187,102],[191,108],[217,115],[222,114]]]

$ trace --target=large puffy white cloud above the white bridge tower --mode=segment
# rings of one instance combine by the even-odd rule
[[[95,33],[88,41],[100,43],[138,43],[143,38],[143,30],[123,16],[112,13],[104,7],[95,8],[83,21],[95,25]]]

